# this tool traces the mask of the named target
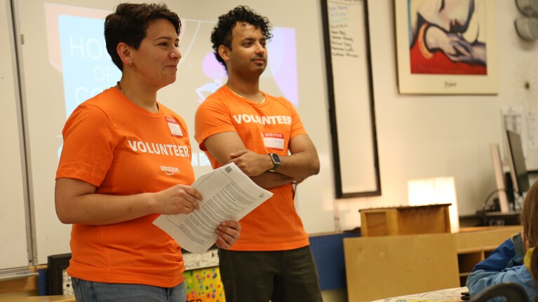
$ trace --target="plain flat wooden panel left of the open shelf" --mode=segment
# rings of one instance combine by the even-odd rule
[[[452,234],[345,238],[349,301],[459,287]]]

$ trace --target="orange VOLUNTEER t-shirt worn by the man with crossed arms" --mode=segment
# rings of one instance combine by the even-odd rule
[[[302,122],[288,100],[264,93],[262,104],[234,95],[226,86],[210,95],[196,111],[195,135],[213,168],[220,163],[203,141],[222,132],[237,132],[246,148],[255,153],[288,155],[290,139],[306,135]],[[278,170],[277,170],[278,172]],[[241,219],[241,237],[231,246],[236,251],[278,251],[309,245],[307,233],[293,203],[292,184],[269,189],[273,197]]]

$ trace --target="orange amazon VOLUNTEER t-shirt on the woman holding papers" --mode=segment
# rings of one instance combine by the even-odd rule
[[[109,88],[77,107],[62,132],[56,178],[95,193],[133,195],[194,181],[183,119],[163,104],[152,114]],[[67,273],[83,280],[174,287],[183,281],[180,245],[152,224],[159,214],[105,226],[74,224]]]

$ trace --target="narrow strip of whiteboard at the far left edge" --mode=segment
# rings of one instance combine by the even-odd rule
[[[22,162],[20,110],[15,89],[15,69],[9,4],[0,0],[0,269],[28,266],[25,179]]]

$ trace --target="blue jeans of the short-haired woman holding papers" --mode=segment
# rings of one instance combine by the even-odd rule
[[[76,302],[185,302],[185,282],[175,287],[102,283],[71,278]]]

